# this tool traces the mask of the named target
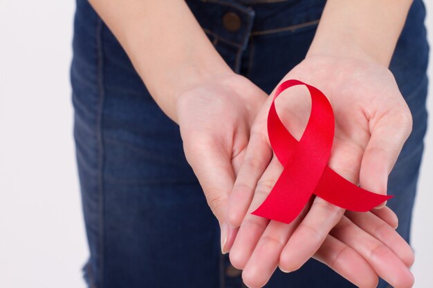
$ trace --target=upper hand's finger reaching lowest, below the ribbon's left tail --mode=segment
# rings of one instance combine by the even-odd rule
[[[297,224],[304,218],[310,204],[290,224],[270,220],[266,230],[257,242],[257,246],[246,266],[243,268],[243,282],[248,287],[262,287],[277,268],[279,256],[288,238],[295,231]]]

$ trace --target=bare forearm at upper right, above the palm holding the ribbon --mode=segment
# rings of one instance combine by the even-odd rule
[[[389,66],[412,0],[328,0],[308,55],[363,57]]]

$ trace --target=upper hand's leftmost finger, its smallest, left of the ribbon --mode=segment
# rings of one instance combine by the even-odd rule
[[[239,227],[250,206],[257,181],[263,175],[272,157],[268,138],[262,132],[251,133],[237,179],[228,204],[228,222]]]

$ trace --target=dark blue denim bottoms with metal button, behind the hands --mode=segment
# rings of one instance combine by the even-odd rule
[[[270,93],[306,55],[325,1],[187,3],[230,67]],[[389,193],[396,195],[389,207],[407,241],[427,123],[424,18],[423,3],[415,0],[390,66],[414,119],[389,177]],[[71,81],[89,287],[243,287],[240,271],[220,252],[219,224],[185,160],[178,126],[85,0],[77,0]],[[266,287],[353,285],[309,260],[293,273],[277,269]]]

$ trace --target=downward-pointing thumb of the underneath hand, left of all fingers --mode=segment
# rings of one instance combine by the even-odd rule
[[[227,252],[225,244],[232,242],[236,235],[227,224],[228,195],[234,184],[231,151],[219,140],[212,138],[190,139],[185,143],[185,156],[200,182],[212,213],[221,227],[221,251]]]

